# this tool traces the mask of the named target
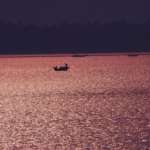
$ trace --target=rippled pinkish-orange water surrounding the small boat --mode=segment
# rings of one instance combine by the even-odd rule
[[[55,149],[150,149],[150,55],[0,58],[0,150]]]

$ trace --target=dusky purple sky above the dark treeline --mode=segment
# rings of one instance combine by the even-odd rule
[[[0,0],[0,18],[53,24],[62,20],[128,20],[150,18],[147,0]]]

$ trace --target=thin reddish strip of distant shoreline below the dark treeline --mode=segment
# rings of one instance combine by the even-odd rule
[[[0,58],[16,57],[88,57],[88,56],[121,56],[128,54],[150,55],[150,52],[126,52],[126,53],[66,53],[66,54],[0,54]],[[77,56],[75,56],[77,55]]]

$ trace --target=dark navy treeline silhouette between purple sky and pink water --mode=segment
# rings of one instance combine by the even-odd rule
[[[0,21],[0,53],[125,52],[150,49],[150,21],[63,22],[53,26]]]

